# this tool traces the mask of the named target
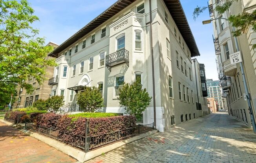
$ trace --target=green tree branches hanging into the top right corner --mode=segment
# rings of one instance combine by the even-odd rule
[[[217,11],[218,14],[223,14],[225,11],[227,11],[230,6],[238,0],[226,0],[223,1],[222,4],[217,4],[215,7],[215,11]],[[194,9],[193,18],[196,20],[196,18],[199,16],[199,14],[203,13],[205,9],[208,7],[196,7]],[[252,11],[252,13],[243,12],[238,15],[230,15],[228,18],[229,22],[232,24],[233,27],[236,28],[236,31],[233,31],[233,36],[240,36],[243,31],[248,29],[249,27],[252,27],[252,30],[256,32],[256,10]],[[252,48],[256,48],[256,44],[252,45]]]

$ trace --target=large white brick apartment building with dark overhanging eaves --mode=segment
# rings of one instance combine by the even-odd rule
[[[96,86],[101,111],[124,113],[118,90],[136,78],[152,96],[143,123],[169,128],[202,116],[191,61],[199,51],[179,0],[118,0],[49,55],[58,63],[52,95],[66,105],[84,85]]]

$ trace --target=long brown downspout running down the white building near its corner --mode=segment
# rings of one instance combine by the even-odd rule
[[[156,127],[156,110],[155,110],[155,70],[154,70],[154,56],[153,56],[153,36],[152,36],[152,13],[151,0],[149,0],[149,15],[150,15],[150,49],[152,60],[152,84],[153,84],[153,108],[154,108],[154,126]],[[148,23],[147,23],[148,24]]]

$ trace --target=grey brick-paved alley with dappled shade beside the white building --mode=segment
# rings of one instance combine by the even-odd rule
[[[87,163],[256,163],[256,135],[227,113],[184,122]]]

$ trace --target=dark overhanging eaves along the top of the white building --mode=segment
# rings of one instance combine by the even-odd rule
[[[65,42],[60,44],[57,48],[55,48],[48,56],[58,57],[61,51],[69,47],[71,44],[75,43],[77,40],[85,36],[86,34],[93,31],[99,25],[103,24],[110,18],[112,18],[115,14],[119,13],[123,9],[125,9],[128,5],[132,4],[136,0],[117,0],[113,5],[111,5],[108,9],[103,11],[99,16],[94,18],[87,25],[82,27],[77,33],[73,34],[69,37]],[[163,0],[174,19],[175,24],[177,25],[182,37],[190,49],[191,57],[200,56],[198,47],[196,45],[196,41],[192,34],[192,31],[188,25],[187,18],[185,16],[184,10],[181,6],[179,0]]]

